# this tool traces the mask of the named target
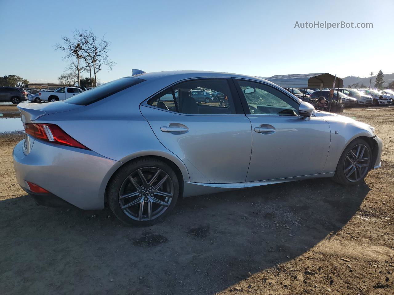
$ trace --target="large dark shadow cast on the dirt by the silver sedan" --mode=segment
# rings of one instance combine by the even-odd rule
[[[190,197],[151,227],[108,209],[0,202],[5,293],[214,294],[299,256],[355,214],[370,188],[329,179]]]

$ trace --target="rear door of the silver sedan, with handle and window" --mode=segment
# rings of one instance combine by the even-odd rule
[[[197,87],[224,93],[229,105],[197,104],[192,94]],[[245,182],[251,124],[234,91],[231,79],[195,79],[169,87],[141,104],[141,113],[154,134],[184,162],[191,182]],[[169,94],[171,101],[167,100]],[[160,99],[163,96],[165,101]]]

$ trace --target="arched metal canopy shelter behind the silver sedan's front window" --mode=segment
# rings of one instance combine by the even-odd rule
[[[319,88],[323,83],[323,88],[333,88],[335,76],[329,73],[319,74],[292,74],[292,75],[275,75],[266,78],[266,80],[279,85],[280,87],[289,88]],[[335,88],[343,87],[343,80],[336,77]]]

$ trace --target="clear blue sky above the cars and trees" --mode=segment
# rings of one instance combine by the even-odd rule
[[[212,70],[253,76],[394,72],[394,1],[0,0],[0,75],[57,82],[53,45],[75,28],[112,42],[112,72]],[[299,29],[298,22],[372,22],[372,29]],[[86,74],[84,74],[86,76]]]

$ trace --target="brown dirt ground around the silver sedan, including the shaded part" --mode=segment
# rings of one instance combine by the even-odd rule
[[[394,107],[346,109],[376,127],[365,184],[297,181],[190,197],[158,225],[109,209],[37,206],[0,136],[0,294],[394,294]]]

